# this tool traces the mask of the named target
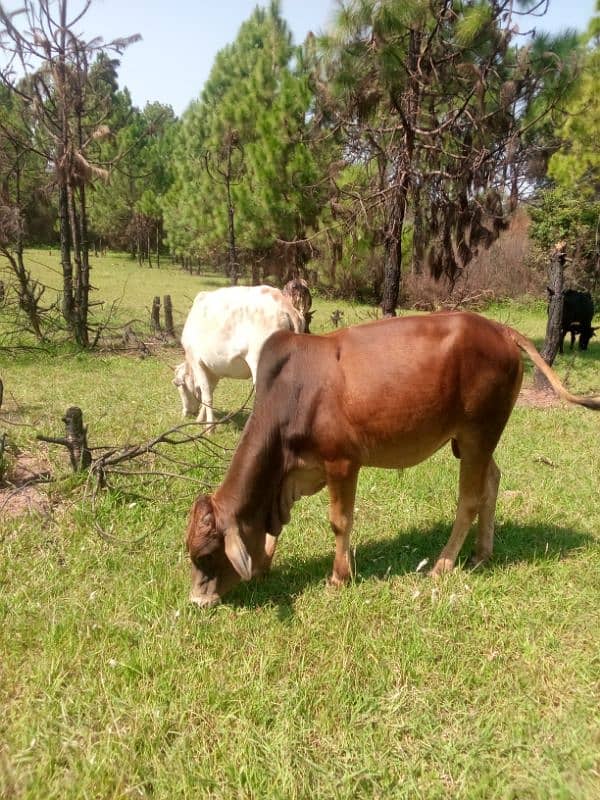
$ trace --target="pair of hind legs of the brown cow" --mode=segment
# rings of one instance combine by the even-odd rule
[[[489,498],[490,500],[493,498],[493,501],[490,502],[488,500],[488,483],[489,489],[493,488],[493,483],[488,481],[488,474],[490,474],[490,464],[493,463],[493,459],[490,455],[483,456],[483,455],[467,455],[464,453],[464,448],[461,447],[461,461],[460,461],[460,478],[459,478],[459,494],[458,494],[458,508],[456,511],[456,519],[454,521],[454,525],[452,526],[452,533],[450,534],[450,538],[442,552],[439,555],[438,560],[436,561],[433,569],[431,570],[431,575],[437,576],[442,575],[445,572],[450,572],[450,570],[454,567],[454,563],[460,553],[460,549],[463,546],[465,539],[467,538],[467,534],[469,532],[469,528],[477,514],[481,513],[484,509],[484,522],[485,522],[485,534],[481,537],[481,528],[480,533],[478,535],[478,547],[480,541],[485,540],[486,544],[489,543],[489,528],[490,525],[493,526],[493,509],[495,508],[495,493],[493,491],[490,492]],[[499,470],[494,464],[495,470],[498,472],[499,478]],[[494,475],[494,470],[492,469],[491,474]],[[497,493],[497,487],[496,487]],[[491,517],[491,519],[490,519]],[[492,527],[493,530],[493,527]]]

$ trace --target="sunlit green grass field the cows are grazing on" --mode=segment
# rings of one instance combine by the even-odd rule
[[[48,280],[55,257],[33,255]],[[172,295],[181,321],[199,289],[219,284],[117,256],[94,267],[98,298],[119,300],[115,321],[141,329],[155,294]],[[346,323],[373,316],[314,306],[316,332],[336,307]],[[543,337],[542,304],[489,314]],[[69,405],[84,410],[92,446],[178,423],[176,347],[145,358],[2,350],[9,328],[0,323],[9,460],[19,448],[68,476],[63,448],[35,435],[61,435]],[[557,369],[573,391],[600,392],[600,343]],[[218,408],[248,391],[223,381]],[[219,480],[243,418],[219,427],[222,448],[183,448],[198,465],[188,476]],[[445,449],[405,472],[363,470],[352,585],[325,585],[321,493],[294,507],[272,573],[204,612],[187,602],[193,481],[121,476],[92,504],[66,477],[48,484],[48,513],[0,512],[0,797],[600,797],[600,415],[519,406],[497,460],[488,568],[435,583],[415,572],[454,514]]]

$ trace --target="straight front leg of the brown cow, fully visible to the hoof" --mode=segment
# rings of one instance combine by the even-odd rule
[[[349,462],[326,466],[329,490],[329,523],[335,534],[335,558],[333,573],[329,580],[332,586],[342,586],[352,577],[350,559],[350,533],[354,520],[354,498],[358,468]]]

